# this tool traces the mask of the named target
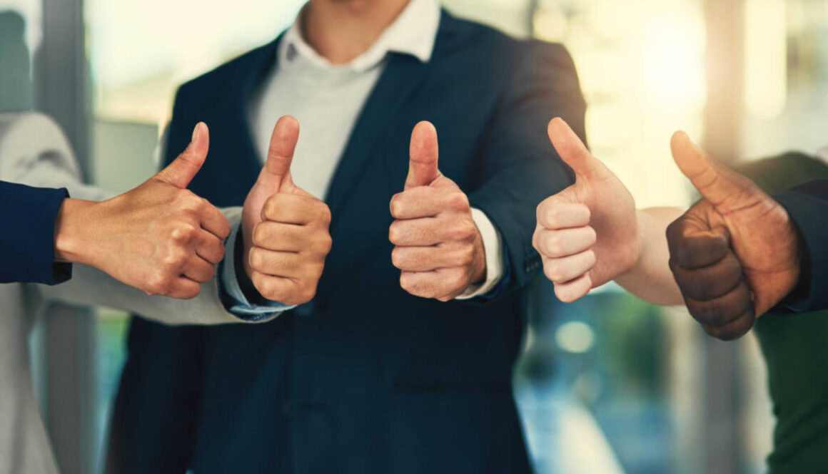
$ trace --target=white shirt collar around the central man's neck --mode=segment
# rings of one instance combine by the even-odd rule
[[[301,15],[300,12],[282,37],[277,52],[280,66],[290,65],[297,55],[301,55],[318,68],[364,72],[381,63],[389,52],[412,55],[424,63],[431,60],[440,26],[440,3],[438,0],[411,0],[378,40],[346,65],[332,65],[305,41],[301,34]]]

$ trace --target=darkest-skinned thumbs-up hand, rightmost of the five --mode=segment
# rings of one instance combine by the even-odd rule
[[[797,232],[785,208],[684,132],[676,132],[671,146],[703,199],[667,227],[670,269],[705,331],[739,338],[796,287]]]

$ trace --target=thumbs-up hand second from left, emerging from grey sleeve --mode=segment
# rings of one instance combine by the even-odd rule
[[[291,178],[298,140],[296,119],[280,118],[242,213],[244,271],[262,296],[284,304],[314,298],[331,247],[330,209]]]

